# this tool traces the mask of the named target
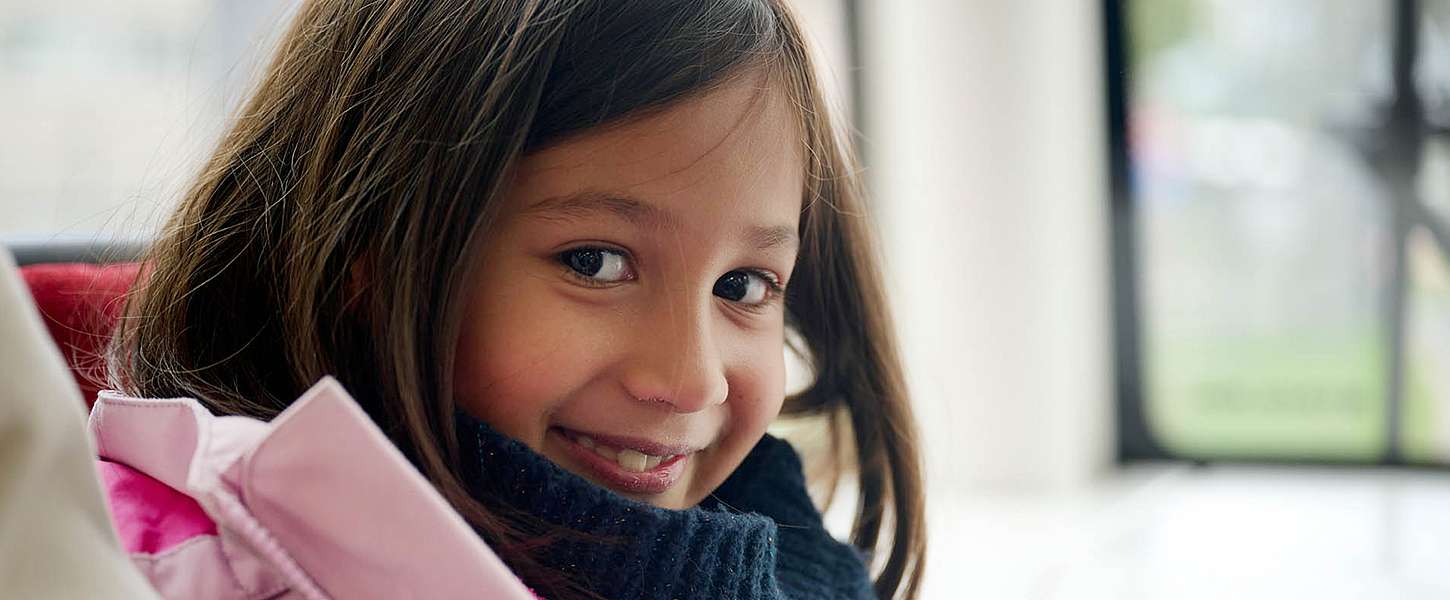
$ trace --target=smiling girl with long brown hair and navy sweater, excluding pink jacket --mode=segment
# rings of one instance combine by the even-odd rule
[[[304,1],[112,384],[270,419],[335,375],[548,599],[915,597],[915,426],[837,132],[783,0]],[[851,546],[777,414],[854,449]]]

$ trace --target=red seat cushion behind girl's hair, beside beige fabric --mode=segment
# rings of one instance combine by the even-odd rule
[[[139,268],[135,262],[20,267],[20,277],[30,287],[30,296],[71,367],[87,407],[104,387],[106,342]]]

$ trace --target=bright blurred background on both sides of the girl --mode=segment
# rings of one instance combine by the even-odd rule
[[[293,1],[0,0],[0,238],[151,236]],[[1450,597],[1450,0],[795,1],[925,597]]]

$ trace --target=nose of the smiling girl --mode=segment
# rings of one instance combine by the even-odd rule
[[[684,294],[689,296],[689,294]],[[622,384],[639,401],[693,413],[725,401],[729,387],[712,335],[709,300],[668,301],[632,332]]]

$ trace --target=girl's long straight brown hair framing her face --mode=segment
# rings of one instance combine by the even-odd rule
[[[525,581],[574,596],[458,475],[470,257],[519,157],[751,68],[779,75],[809,157],[786,309],[815,378],[783,412],[825,417],[835,448],[854,448],[851,542],[879,558],[882,599],[915,597],[919,449],[877,251],[783,0],[304,1],[151,248],[110,384],[268,419],[334,374]]]

